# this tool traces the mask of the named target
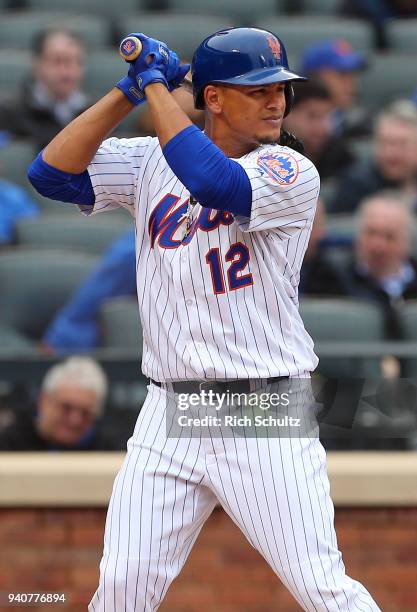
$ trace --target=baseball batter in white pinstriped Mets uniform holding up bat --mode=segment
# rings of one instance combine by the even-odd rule
[[[189,67],[143,34],[129,37],[127,53],[132,36],[142,53],[128,76],[67,126],[29,172],[44,195],[87,214],[122,206],[135,221],[142,367],[150,383],[114,483],[89,610],[157,610],[217,503],[303,610],[379,610],[345,574],[316,435],[226,432],[222,424],[202,435],[192,419],[191,430],[171,435],[175,417],[167,416],[180,398],[193,398],[198,411],[211,393],[217,410],[225,394],[260,397],[308,382],[317,365],[297,285],[319,177],[281,140],[292,82],[302,77],[290,71],[271,32],[209,36],[192,63],[202,132],[171,94]],[[105,140],[145,99],[157,138]],[[231,402],[229,412],[240,414],[242,402]],[[205,410],[212,416],[212,404]]]

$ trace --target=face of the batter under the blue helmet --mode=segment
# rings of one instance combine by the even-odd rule
[[[223,136],[248,146],[279,140],[285,112],[285,85],[218,86]]]

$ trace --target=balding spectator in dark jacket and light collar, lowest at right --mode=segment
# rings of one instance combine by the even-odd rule
[[[387,338],[402,337],[398,308],[417,298],[417,265],[411,257],[413,218],[400,194],[382,192],[359,210],[355,256],[342,271],[346,296],[372,300],[383,310]]]

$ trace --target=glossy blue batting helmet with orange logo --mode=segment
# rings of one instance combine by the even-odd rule
[[[230,28],[208,36],[197,47],[191,70],[194,103],[200,109],[204,108],[204,87],[209,83],[286,83],[286,116],[294,97],[291,82],[306,80],[290,71],[281,40],[259,28]]]

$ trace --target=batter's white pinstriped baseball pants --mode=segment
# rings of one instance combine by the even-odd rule
[[[169,438],[166,402],[150,385],[114,482],[89,612],[157,610],[218,502],[301,609],[380,610],[345,574],[317,437]]]

